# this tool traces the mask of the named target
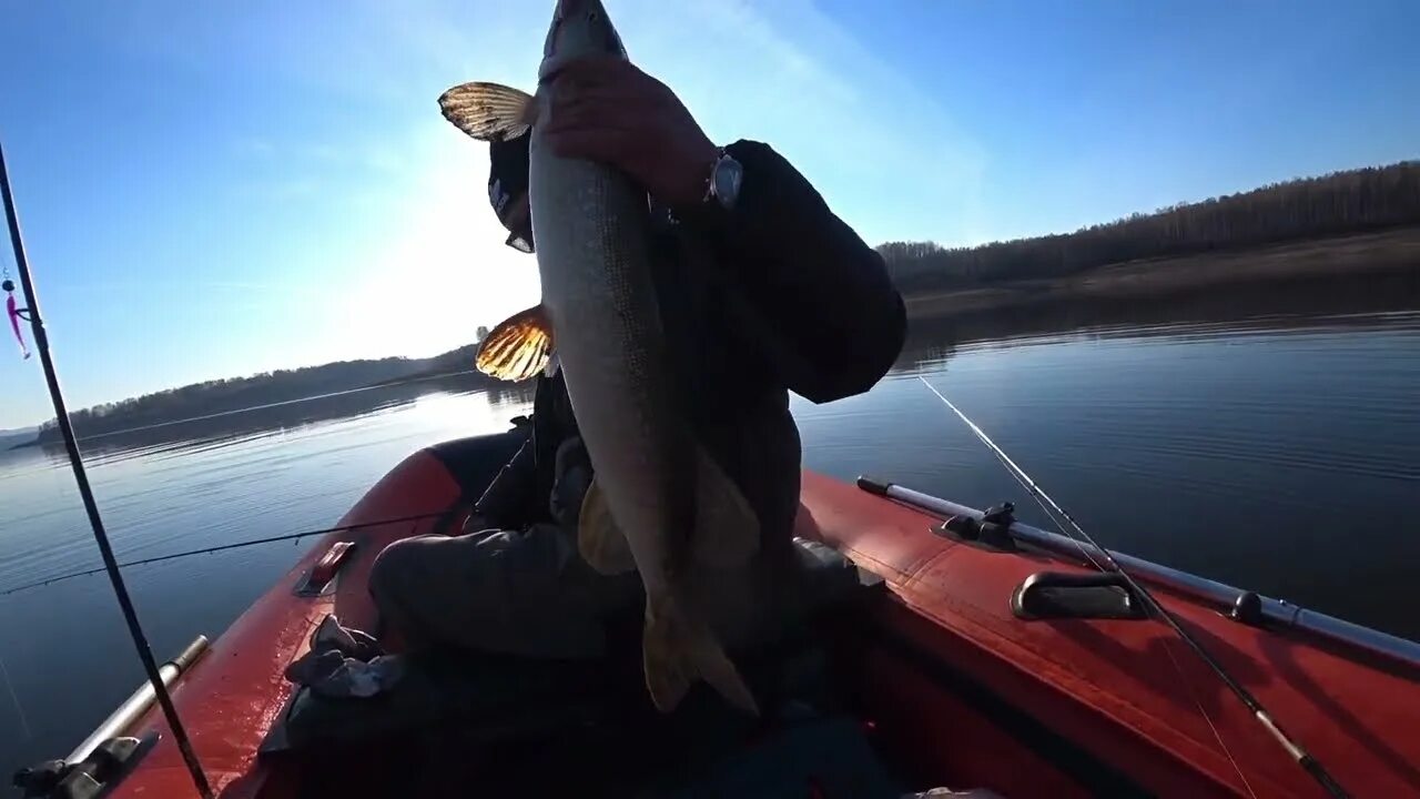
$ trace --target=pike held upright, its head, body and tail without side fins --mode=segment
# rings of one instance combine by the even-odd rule
[[[548,31],[540,77],[592,54],[625,58],[596,0],[564,0]],[[538,91],[541,117],[547,90]],[[648,687],[657,707],[674,705],[683,687],[657,688],[666,660],[706,660],[682,674],[707,678],[740,707],[753,708],[738,675],[687,607],[683,574],[694,567],[699,445],[672,402],[666,350],[652,281],[652,229],[646,192],[605,163],[559,158],[534,125],[528,199],[557,357],[596,485],[630,549],[646,587]],[[670,616],[672,618],[666,618]],[[663,640],[666,626],[673,640]],[[699,654],[660,653],[697,638]],[[723,661],[723,663],[720,663]],[[680,665],[687,665],[682,663]],[[676,670],[674,663],[669,667]],[[720,680],[704,671],[720,671]],[[726,674],[724,670],[728,670]],[[674,678],[674,675],[669,675]]]

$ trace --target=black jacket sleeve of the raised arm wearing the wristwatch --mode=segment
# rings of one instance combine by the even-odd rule
[[[906,310],[882,256],[768,145],[726,148],[744,166],[733,210],[679,212],[720,252],[763,353],[788,388],[831,402],[872,388],[902,350]]]

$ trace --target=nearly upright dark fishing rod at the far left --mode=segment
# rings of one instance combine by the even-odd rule
[[[118,559],[114,557],[114,547],[109,546],[108,532],[104,529],[104,519],[99,516],[98,502],[94,499],[94,489],[88,482],[88,472],[84,471],[84,456],[80,452],[78,439],[74,436],[74,425],[70,424],[64,392],[60,390],[60,375],[54,370],[54,357],[50,354],[50,336],[44,330],[43,316],[40,314],[40,297],[34,291],[30,262],[24,254],[24,240],[20,236],[20,218],[14,209],[14,195],[10,191],[10,172],[6,168],[3,146],[0,146],[0,195],[4,198],[4,216],[10,227],[10,247],[14,250],[16,270],[20,273],[20,286],[24,289],[24,296],[30,306],[28,323],[34,334],[34,348],[40,353],[40,364],[44,367],[44,380],[50,390],[50,401],[54,405],[54,419],[60,427],[60,434],[64,436],[64,449],[70,456],[74,482],[78,483],[80,500],[84,503],[89,527],[94,530],[94,542],[104,557],[104,570],[114,586],[114,596],[118,599],[118,607],[124,613],[124,623],[133,638],[133,648],[138,650],[138,660],[143,664],[148,682],[153,687],[158,704],[163,711],[163,718],[168,719],[168,726],[172,729],[173,742],[178,744],[178,751],[182,752],[182,759],[187,765],[187,773],[197,788],[197,795],[203,799],[212,799],[212,785],[207,782],[207,775],[197,761],[197,754],[192,748],[192,741],[187,738],[187,731],[183,728],[182,719],[178,717],[178,708],[173,707],[173,699],[168,694],[168,685],[163,684],[162,674],[158,671],[158,661],[153,660],[152,648],[148,645],[148,636],[143,633],[143,626],[138,621],[138,610],[133,607],[133,600],[128,596],[128,586],[124,584],[124,576],[118,570],[119,566]]]

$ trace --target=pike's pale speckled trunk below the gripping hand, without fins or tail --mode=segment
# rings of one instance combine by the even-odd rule
[[[559,44],[592,44],[567,36],[574,20],[562,11],[552,31],[565,37]],[[574,53],[559,47],[544,64],[564,55]],[[694,482],[686,479],[694,463],[689,431],[669,402],[646,193],[608,165],[557,156],[541,125],[532,129],[530,168],[542,307],[557,331],[568,397],[596,482],[655,594],[679,566],[669,536],[689,536],[694,526]]]

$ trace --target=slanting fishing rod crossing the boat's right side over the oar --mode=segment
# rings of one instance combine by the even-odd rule
[[[1218,680],[1221,680],[1223,684],[1228,687],[1233,695],[1237,697],[1247,707],[1247,709],[1252,712],[1252,717],[1262,724],[1262,728],[1267,729],[1268,734],[1271,734],[1271,736],[1282,746],[1282,749],[1287,751],[1287,754],[1292,758],[1292,761],[1296,762],[1296,765],[1302,766],[1302,769],[1305,769],[1306,773],[1309,773],[1312,779],[1315,779],[1322,786],[1322,789],[1326,790],[1326,793],[1338,798],[1350,796],[1350,793],[1348,793],[1346,789],[1343,789],[1340,783],[1338,783],[1336,779],[1332,778],[1331,772],[1328,772],[1326,768],[1322,766],[1322,763],[1316,758],[1314,758],[1306,749],[1304,749],[1289,735],[1287,735],[1287,732],[1282,731],[1282,726],[1277,722],[1277,719],[1272,718],[1272,714],[1267,712],[1267,708],[1264,708],[1262,704],[1257,701],[1257,697],[1254,697],[1251,691],[1248,691],[1237,680],[1234,680],[1233,675],[1230,675],[1227,670],[1223,668],[1223,664],[1214,660],[1214,657],[1208,654],[1208,650],[1206,650],[1203,644],[1197,641],[1197,638],[1194,638],[1187,630],[1184,630],[1183,624],[1180,624],[1179,620],[1174,618],[1172,613],[1164,610],[1163,604],[1160,604],[1159,600],[1156,600],[1152,593],[1149,593],[1143,586],[1135,581],[1133,576],[1125,572],[1123,566],[1120,566],[1119,562],[1115,560],[1115,556],[1110,554],[1108,549],[1099,546],[1099,543],[1096,543],[1095,539],[1089,533],[1086,533],[1083,527],[1079,526],[1079,522],[1076,522],[1074,516],[1071,516],[1064,508],[1059,506],[1059,503],[1051,499],[1051,496],[1045,493],[1045,490],[1039,485],[1037,485],[1035,481],[1032,481],[1028,473],[1025,473],[1025,469],[1017,466],[1015,461],[1011,461],[1011,456],[1007,455],[1004,449],[997,446],[995,442],[991,441],[991,436],[985,434],[985,431],[983,431],[980,427],[976,425],[976,422],[967,418],[967,415],[963,414],[960,408],[953,405],[951,400],[947,400],[940,391],[937,391],[934,385],[927,382],[927,378],[917,375],[917,380],[920,380],[922,384],[926,385],[929,391],[936,394],[937,400],[946,402],[947,408],[950,408],[951,412],[956,414],[957,418],[960,418],[967,425],[967,428],[973,432],[973,435],[976,435],[977,439],[981,444],[984,444],[987,449],[990,449],[1001,461],[1003,465],[1005,465],[1005,468],[1011,472],[1011,475],[1017,481],[1020,481],[1020,483],[1025,488],[1025,490],[1031,492],[1031,495],[1035,496],[1037,500],[1049,505],[1049,508],[1054,509],[1055,513],[1059,513],[1059,516],[1069,523],[1069,527],[1072,530],[1079,533],[1079,537],[1085,539],[1085,542],[1088,542],[1092,547],[1095,547],[1095,550],[1098,550],[1105,564],[1109,566],[1109,570],[1119,574],[1119,577],[1129,586],[1129,589],[1135,593],[1135,596],[1145,599],[1145,603],[1150,607],[1150,610],[1153,610],[1154,616],[1160,618],[1164,624],[1167,624],[1179,636],[1179,638],[1181,638],[1183,643],[1187,644],[1189,648],[1193,650],[1193,653],[1197,654],[1200,660],[1203,660],[1203,663],[1218,677]],[[1047,515],[1049,516],[1049,512],[1047,512]],[[1058,527],[1061,527],[1061,532],[1069,535],[1069,530],[1065,529],[1065,525],[1061,525],[1059,520],[1056,520],[1054,516],[1051,516],[1051,520],[1055,522]],[[1095,563],[1095,559],[1091,557],[1089,560],[1091,563]],[[1096,567],[1098,566],[1099,564],[1096,563]],[[1204,717],[1207,714],[1204,714]],[[1210,721],[1208,724],[1211,725],[1213,722]],[[1228,755],[1228,758],[1231,759],[1231,755]],[[1244,782],[1245,781],[1247,778],[1244,778]]]

